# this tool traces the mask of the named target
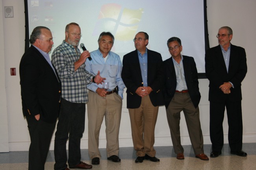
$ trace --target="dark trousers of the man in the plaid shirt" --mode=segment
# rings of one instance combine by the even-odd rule
[[[75,166],[81,161],[80,141],[85,127],[85,103],[69,102],[61,99],[61,111],[54,141],[54,170]],[[69,139],[69,159],[66,143]]]

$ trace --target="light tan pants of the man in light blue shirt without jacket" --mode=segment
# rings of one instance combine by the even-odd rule
[[[119,154],[119,127],[122,112],[122,98],[117,93],[100,97],[97,93],[89,91],[88,108],[88,151],[91,159],[101,158],[99,134],[105,116],[107,156]]]

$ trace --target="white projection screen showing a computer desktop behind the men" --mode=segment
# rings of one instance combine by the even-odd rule
[[[76,22],[81,27],[80,43],[89,51],[98,49],[102,31],[110,31],[115,42],[111,51],[122,57],[135,50],[133,38],[147,32],[147,48],[171,55],[167,40],[182,41],[182,55],[195,58],[198,73],[204,69],[204,0],[28,0],[29,33],[36,26],[52,31],[54,48],[65,39],[65,26]],[[52,53],[50,52],[50,55]]]

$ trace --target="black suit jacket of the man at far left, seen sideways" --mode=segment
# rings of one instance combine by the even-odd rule
[[[57,77],[58,73],[56,71]],[[61,81],[43,55],[30,46],[20,60],[20,86],[24,116],[40,114],[45,122],[55,123],[59,114]]]

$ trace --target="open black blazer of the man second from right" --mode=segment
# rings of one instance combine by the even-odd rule
[[[197,67],[195,64],[195,60],[193,57],[188,57],[183,55],[183,68],[184,75],[187,84],[187,90],[189,96],[195,106],[197,108],[200,102],[200,92],[198,87],[198,76],[197,76]],[[165,108],[168,108],[171,100],[173,99],[177,80],[176,80],[176,72],[173,64],[173,57],[165,60],[164,62],[165,68],[165,86],[164,86],[164,96],[165,96]]]

